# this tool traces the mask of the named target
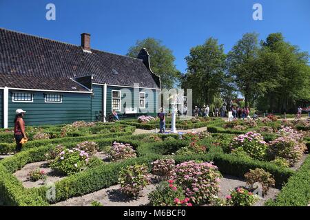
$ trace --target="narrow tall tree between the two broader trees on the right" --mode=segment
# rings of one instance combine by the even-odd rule
[[[243,34],[242,39],[234,45],[227,56],[227,66],[240,92],[245,96],[245,105],[253,104],[262,90],[257,70],[258,34]]]

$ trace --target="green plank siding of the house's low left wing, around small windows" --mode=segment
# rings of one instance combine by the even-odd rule
[[[12,102],[13,92],[28,92],[34,94],[33,102]],[[27,111],[25,123],[28,125],[63,124],[78,120],[92,120],[91,94],[61,93],[61,103],[45,103],[44,92],[39,91],[9,91],[8,126],[14,126],[16,109]]]

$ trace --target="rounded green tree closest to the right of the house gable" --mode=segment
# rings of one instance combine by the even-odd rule
[[[218,40],[213,38],[190,50],[185,58],[187,74],[182,85],[193,89],[196,104],[211,104],[220,93],[225,80],[225,59],[223,45],[218,45]]]

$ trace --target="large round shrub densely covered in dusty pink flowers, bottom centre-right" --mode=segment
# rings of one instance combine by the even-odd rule
[[[185,190],[185,195],[194,203],[207,203],[220,190],[221,175],[217,169],[207,162],[183,162],[176,166],[176,184]]]

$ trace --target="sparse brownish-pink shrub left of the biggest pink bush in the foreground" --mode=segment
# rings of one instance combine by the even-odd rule
[[[119,173],[118,182],[121,184],[122,192],[130,197],[138,197],[143,187],[149,184],[147,166],[145,164],[136,164],[122,168]]]

